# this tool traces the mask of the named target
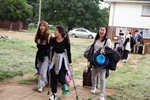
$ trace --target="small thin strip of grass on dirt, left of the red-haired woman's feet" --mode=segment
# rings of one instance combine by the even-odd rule
[[[28,78],[19,80],[18,83],[20,83],[20,84],[32,84],[33,82],[35,82],[37,80],[38,80],[37,77],[28,77]]]

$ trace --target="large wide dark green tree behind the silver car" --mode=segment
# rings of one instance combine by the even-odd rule
[[[84,27],[93,30],[103,21],[101,0],[42,0],[41,19],[50,24],[63,24],[68,30],[74,27]],[[36,18],[38,18],[38,9]]]

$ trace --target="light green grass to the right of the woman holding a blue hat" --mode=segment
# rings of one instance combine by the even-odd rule
[[[135,56],[136,57],[136,56]],[[150,96],[150,55],[145,55],[147,59],[140,59],[136,69],[130,67],[130,63],[125,63],[117,71],[110,72],[110,77],[106,79],[106,88],[117,89],[119,92],[108,95],[111,100],[149,100]],[[133,57],[134,58],[134,57]],[[132,57],[129,59],[133,59]],[[130,73],[129,73],[130,72]]]

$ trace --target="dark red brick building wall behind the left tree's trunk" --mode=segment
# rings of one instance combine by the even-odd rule
[[[0,21],[0,28],[10,29],[11,22],[10,21]],[[12,29],[20,30],[20,21],[13,22]],[[22,29],[28,29],[28,23],[23,23]]]

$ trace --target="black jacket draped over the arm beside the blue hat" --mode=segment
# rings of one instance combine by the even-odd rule
[[[110,47],[105,47],[105,52],[109,58],[109,63],[106,66],[106,68],[110,70],[116,70],[117,63],[120,60],[119,54],[117,53],[116,50]]]

